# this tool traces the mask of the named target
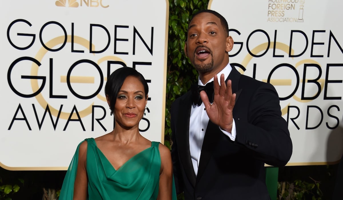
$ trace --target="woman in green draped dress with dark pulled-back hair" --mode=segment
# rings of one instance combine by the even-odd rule
[[[115,128],[79,144],[60,200],[176,200],[169,149],[139,133],[148,90],[143,75],[133,68],[122,67],[110,75],[105,95]]]

